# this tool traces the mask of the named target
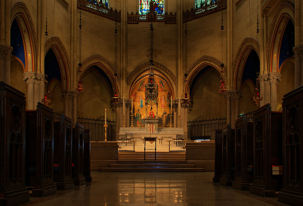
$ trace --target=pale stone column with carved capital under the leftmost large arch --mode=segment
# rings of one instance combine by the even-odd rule
[[[35,72],[25,72],[23,74],[23,80],[26,81],[27,84],[27,109],[35,109]]]

